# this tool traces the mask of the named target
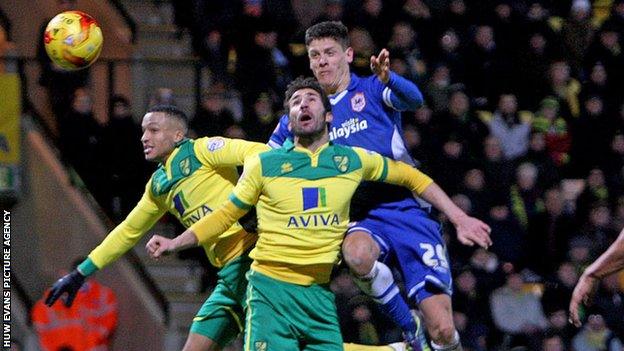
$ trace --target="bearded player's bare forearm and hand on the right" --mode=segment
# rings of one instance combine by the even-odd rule
[[[446,195],[436,183],[431,183],[420,194],[425,201],[444,213],[457,231],[457,239],[464,245],[477,244],[484,249],[492,245],[490,227],[477,218],[468,216]]]

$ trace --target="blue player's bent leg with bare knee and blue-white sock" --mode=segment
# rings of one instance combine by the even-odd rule
[[[421,344],[425,344],[424,334],[421,332],[419,335],[418,325],[400,294],[390,268],[378,261],[380,252],[370,232],[357,226],[351,228],[342,244],[342,254],[355,283],[399,325],[406,341],[413,344],[412,340],[418,338]]]

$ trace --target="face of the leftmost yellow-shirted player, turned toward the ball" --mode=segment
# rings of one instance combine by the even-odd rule
[[[164,112],[147,113],[143,117],[141,128],[143,154],[148,161],[164,162],[176,143],[184,137],[184,132],[178,128],[177,123],[172,118],[167,118]]]

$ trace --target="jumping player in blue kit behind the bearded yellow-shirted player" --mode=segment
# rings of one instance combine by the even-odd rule
[[[308,28],[305,42],[310,68],[331,101],[330,139],[414,165],[404,145],[400,111],[421,106],[422,94],[390,71],[388,51],[371,57],[373,75],[359,77],[350,72],[353,49],[342,23],[322,22]],[[291,137],[288,124],[287,116],[282,117],[269,145],[279,147]],[[413,348],[428,349],[428,345],[388,265],[401,272],[408,298],[423,314],[433,348],[460,350],[448,255],[440,225],[429,211],[428,203],[406,189],[365,183],[353,199],[356,222],[347,231],[342,252],[357,284],[397,322]],[[489,232],[458,232],[458,239],[465,245],[491,245]]]

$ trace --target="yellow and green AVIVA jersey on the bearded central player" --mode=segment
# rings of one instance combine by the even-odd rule
[[[326,283],[349,223],[351,197],[365,180],[418,194],[432,183],[417,169],[365,149],[328,143],[310,152],[287,141],[247,159],[230,201],[191,230],[200,243],[210,243],[255,204],[259,238],[250,253],[252,269],[295,284]]]

